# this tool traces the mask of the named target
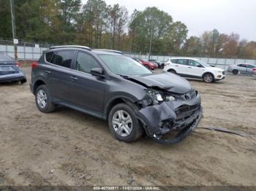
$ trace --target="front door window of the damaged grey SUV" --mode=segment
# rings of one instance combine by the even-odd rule
[[[91,55],[83,52],[78,52],[76,66],[78,71],[83,71],[86,73],[90,73],[91,69],[100,67],[97,61],[91,57]]]

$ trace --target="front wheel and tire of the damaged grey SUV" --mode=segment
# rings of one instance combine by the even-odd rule
[[[123,117],[124,120],[119,120]],[[113,106],[108,114],[108,126],[116,139],[127,143],[140,139],[143,134],[143,128],[135,116],[135,111],[127,104]]]

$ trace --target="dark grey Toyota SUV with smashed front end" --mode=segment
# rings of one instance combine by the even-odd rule
[[[41,112],[67,106],[108,120],[125,142],[147,136],[162,144],[183,140],[200,122],[200,95],[176,74],[153,74],[117,51],[59,46],[32,64],[31,91]]]

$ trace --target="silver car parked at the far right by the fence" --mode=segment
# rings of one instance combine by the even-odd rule
[[[251,63],[238,63],[228,66],[227,71],[232,72],[232,74],[248,74],[252,75],[254,69],[256,69],[256,64]]]

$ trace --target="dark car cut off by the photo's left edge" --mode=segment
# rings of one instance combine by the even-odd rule
[[[0,52],[0,82],[26,83],[26,75],[19,64],[4,52]]]

